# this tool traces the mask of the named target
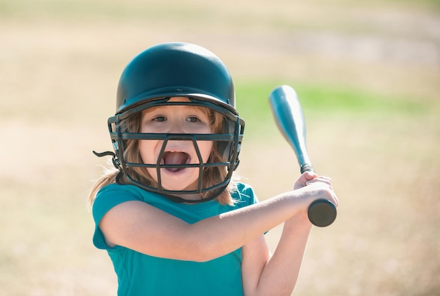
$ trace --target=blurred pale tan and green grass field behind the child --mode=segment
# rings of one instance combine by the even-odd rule
[[[105,165],[91,150],[110,149],[127,62],[188,41],[231,70],[238,173],[260,199],[299,175],[268,94],[290,84],[302,102],[341,204],[313,229],[293,295],[439,295],[439,28],[434,0],[0,0],[0,294],[115,295],[91,243],[86,195]]]

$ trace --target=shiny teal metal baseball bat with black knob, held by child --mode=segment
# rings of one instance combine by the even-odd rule
[[[297,93],[290,86],[278,86],[269,95],[273,116],[285,140],[292,146],[301,173],[315,172],[306,148],[306,125]],[[335,205],[326,199],[313,201],[308,210],[309,220],[326,227],[336,219]]]

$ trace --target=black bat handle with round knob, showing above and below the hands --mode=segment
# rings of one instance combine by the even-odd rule
[[[301,166],[301,173],[314,172],[311,164],[305,163]],[[310,222],[318,227],[326,227],[336,219],[336,206],[327,199],[317,199],[309,206],[307,214]]]

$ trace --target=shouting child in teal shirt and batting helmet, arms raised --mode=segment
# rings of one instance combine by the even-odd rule
[[[93,244],[107,250],[118,295],[290,295],[316,199],[331,180],[304,173],[257,203],[234,179],[245,122],[233,82],[205,48],[164,43],[122,72],[108,120],[116,170],[91,190]],[[271,255],[264,233],[283,223]]]

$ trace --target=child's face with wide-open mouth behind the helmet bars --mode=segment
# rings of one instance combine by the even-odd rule
[[[186,97],[172,97],[169,102],[188,102]],[[141,120],[141,133],[213,133],[209,116],[204,107],[160,106],[145,109]],[[163,140],[140,140],[139,152],[143,163],[155,164],[162,149]],[[212,141],[198,141],[203,163],[212,152]],[[199,163],[197,153],[190,140],[169,140],[160,163],[188,164]],[[155,168],[147,168],[157,181]],[[199,168],[162,168],[160,170],[162,187],[167,190],[195,190],[198,184]]]

